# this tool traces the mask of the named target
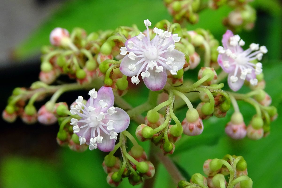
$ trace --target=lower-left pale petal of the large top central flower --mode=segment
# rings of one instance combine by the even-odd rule
[[[137,58],[135,58],[135,60],[131,60],[131,59],[129,59],[128,55],[126,55],[122,59],[122,62],[120,63],[120,72],[122,72],[122,74],[124,74],[125,76],[135,76],[135,75],[137,75],[137,73],[140,70],[143,63],[139,63],[138,65],[136,65],[136,70],[133,71],[133,72],[131,70],[129,70],[128,66],[131,65],[131,64],[137,63],[140,59],[142,59],[142,57],[137,57]]]

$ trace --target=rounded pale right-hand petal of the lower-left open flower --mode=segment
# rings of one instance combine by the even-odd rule
[[[113,120],[114,132],[122,132],[127,129],[130,118],[128,114],[121,108],[115,108],[116,113],[113,115],[107,115],[105,121]]]

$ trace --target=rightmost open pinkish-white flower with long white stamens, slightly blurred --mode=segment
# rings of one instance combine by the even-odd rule
[[[253,63],[252,61],[262,59],[263,54],[267,52],[265,46],[259,47],[259,44],[252,43],[250,48],[243,50],[241,46],[245,42],[234,35],[232,31],[227,30],[222,37],[222,45],[219,46],[218,63],[222,69],[227,72],[228,85],[233,91],[238,91],[247,80],[250,85],[257,85],[256,75],[261,74],[262,64]]]

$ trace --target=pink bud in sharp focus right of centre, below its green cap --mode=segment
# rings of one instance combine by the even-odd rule
[[[202,119],[199,117],[195,122],[188,122],[187,118],[182,121],[183,133],[188,136],[195,136],[202,134],[204,125]]]

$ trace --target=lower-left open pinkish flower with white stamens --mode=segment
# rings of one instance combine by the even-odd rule
[[[115,108],[114,94],[111,87],[101,87],[97,92],[92,89],[88,93],[90,99],[86,105],[81,96],[76,99],[76,106],[70,112],[81,117],[72,118],[70,124],[73,132],[79,136],[80,144],[88,144],[89,149],[112,151],[117,139],[117,133],[127,129],[129,116],[121,108]]]

